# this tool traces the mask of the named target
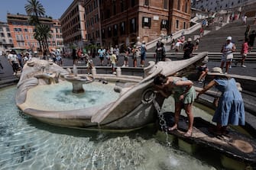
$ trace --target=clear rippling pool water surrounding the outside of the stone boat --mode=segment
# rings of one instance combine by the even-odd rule
[[[0,169],[215,169],[154,137],[154,129],[102,133],[53,127],[24,116],[16,87],[0,89]],[[170,99],[171,100],[171,99]],[[169,101],[164,109],[169,109]]]

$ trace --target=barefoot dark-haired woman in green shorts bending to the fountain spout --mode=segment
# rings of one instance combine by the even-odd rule
[[[180,111],[182,108],[185,109],[187,117],[189,117],[189,128],[184,134],[184,136],[192,136],[193,133],[193,112],[192,106],[193,101],[196,98],[196,91],[193,88],[193,82],[187,80],[186,78],[166,77],[165,75],[158,75],[154,79],[154,85],[157,90],[165,98],[171,95],[171,91],[174,92],[173,98],[175,100],[175,115],[174,115],[174,125],[169,127],[168,130],[177,130]]]

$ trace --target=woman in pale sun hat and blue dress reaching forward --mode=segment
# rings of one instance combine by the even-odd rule
[[[209,129],[209,131],[216,134],[225,134],[228,133],[226,130],[228,124],[235,126],[245,125],[244,101],[235,79],[227,74],[223,74],[222,69],[219,67],[212,68],[211,72],[207,74],[212,75],[213,80],[199,91],[196,98],[199,98],[199,95],[202,95],[213,86],[222,92],[218,106],[215,109],[215,114],[212,117],[216,127]]]

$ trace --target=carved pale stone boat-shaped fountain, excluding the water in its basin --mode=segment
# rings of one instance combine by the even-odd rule
[[[159,73],[164,75],[184,75],[192,68],[194,69],[193,63],[201,63],[206,56],[207,53],[200,53],[186,60],[160,62],[157,65],[151,62],[144,69],[144,78],[119,75],[118,70],[117,75],[96,74],[92,78],[85,75],[77,75],[76,67],[73,70],[75,74],[72,74],[54,63],[33,59],[33,65],[24,66],[21,79],[18,82],[16,104],[25,114],[61,127],[98,129],[100,125],[100,128],[107,130],[134,130],[156,120],[157,114],[154,104],[152,104],[154,98],[160,105],[164,102],[164,98],[156,96],[152,90],[154,77]],[[63,82],[72,81],[73,92],[79,93],[83,91],[83,83],[91,82],[89,84],[96,86],[94,83],[97,81],[92,82],[92,79],[122,82],[122,86],[115,85],[112,88],[113,92],[119,92],[118,98],[107,100],[103,104],[92,107],[80,107],[81,104],[77,104],[77,107],[63,110],[52,109],[50,106],[45,107],[44,104],[40,105],[41,102],[48,100],[47,96],[34,100],[33,98],[35,97],[40,98],[40,95],[36,90],[34,91],[34,96],[32,95],[33,92],[31,92],[35,88],[44,87],[50,87],[51,90],[57,91],[55,90],[57,86],[62,85]],[[60,90],[57,93],[61,94],[63,91]],[[112,95],[106,98],[110,96]],[[35,101],[40,101],[40,103],[34,104]],[[68,104],[66,105],[68,106]]]

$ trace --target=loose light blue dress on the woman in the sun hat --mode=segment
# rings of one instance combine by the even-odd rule
[[[235,79],[215,79],[218,85],[215,86],[222,92],[219,98],[218,107],[212,117],[212,121],[222,124],[222,126],[245,125],[245,107],[238,91]]]

